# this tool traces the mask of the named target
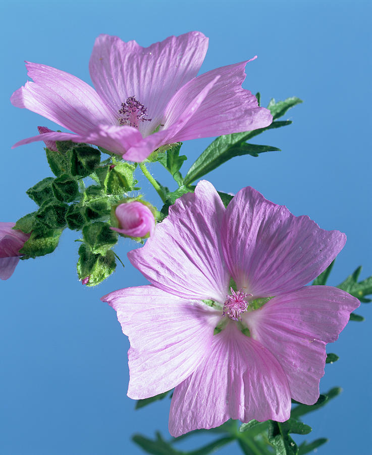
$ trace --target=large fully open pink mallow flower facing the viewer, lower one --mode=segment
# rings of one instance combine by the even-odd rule
[[[250,187],[225,208],[201,181],[170,207],[144,247],[128,253],[150,285],[102,297],[129,336],[128,396],[175,387],[173,436],[230,418],[283,422],[291,398],[313,404],[326,343],[338,338],[359,301],[305,285],[345,240]],[[258,308],[256,299],[268,301]],[[222,330],[214,335],[216,327]]]

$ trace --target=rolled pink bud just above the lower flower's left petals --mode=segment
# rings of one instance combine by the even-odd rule
[[[155,219],[151,210],[138,201],[119,204],[115,209],[119,228],[110,228],[129,237],[144,237],[153,234]]]

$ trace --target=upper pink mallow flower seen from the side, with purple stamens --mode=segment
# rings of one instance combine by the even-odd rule
[[[207,47],[208,39],[196,31],[148,48],[99,35],[89,62],[95,89],[69,73],[26,62],[33,82],[16,90],[11,102],[73,133],[45,132],[14,147],[71,140],[140,162],[163,145],[270,125],[270,111],[241,86],[247,61],[195,77]]]

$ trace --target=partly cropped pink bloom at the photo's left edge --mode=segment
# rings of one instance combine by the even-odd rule
[[[8,280],[19,261],[19,250],[29,239],[29,234],[12,229],[16,223],[0,221],[0,279]]]

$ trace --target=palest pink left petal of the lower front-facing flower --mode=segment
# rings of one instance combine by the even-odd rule
[[[129,336],[128,396],[148,398],[187,378],[207,355],[221,312],[153,286],[112,292],[102,299]]]

